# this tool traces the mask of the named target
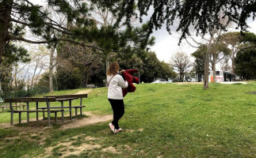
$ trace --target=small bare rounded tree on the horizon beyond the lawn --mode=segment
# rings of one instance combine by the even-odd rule
[[[186,55],[185,52],[175,53],[170,60],[170,65],[173,66],[175,70],[178,70],[180,82],[184,81],[184,75],[186,70],[188,70],[188,68],[192,66],[189,60],[189,55]]]

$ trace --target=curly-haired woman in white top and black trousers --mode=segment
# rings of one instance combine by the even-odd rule
[[[120,74],[117,74],[120,67],[117,62],[113,62],[109,65],[107,70],[108,81],[108,99],[113,109],[113,122],[109,123],[110,129],[114,134],[117,134],[122,129],[118,125],[118,121],[124,115],[124,98],[122,88],[128,87],[128,82],[124,81]],[[120,73],[123,73],[121,70]]]

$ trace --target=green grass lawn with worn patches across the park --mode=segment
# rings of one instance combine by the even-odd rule
[[[256,92],[255,81],[210,84],[208,89],[177,84],[136,87],[124,97],[120,134],[109,130],[109,122],[69,130],[57,125],[36,133],[0,128],[0,157],[256,157],[256,95],[246,93]],[[94,88],[84,100],[84,111],[112,114],[106,93],[106,88]],[[0,122],[10,122],[10,114],[0,113]]]

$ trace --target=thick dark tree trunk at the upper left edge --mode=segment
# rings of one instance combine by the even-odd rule
[[[6,44],[9,40],[8,29],[10,27],[12,4],[13,0],[3,0],[0,3],[0,64],[2,63],[2,55],[6,51]]]

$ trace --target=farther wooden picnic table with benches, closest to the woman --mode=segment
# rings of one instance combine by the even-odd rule
[[[78,118],[78,109],[80,109],[80,115],[82,115],[82,107],[86,107],[85,105],[82,105],[82,99],[87,98],[88,94],[74,94],[74,95],[61,95],[61,96],[44,96],[44,97],[54,97],[56,101],[61,102],[61,107],[50,107],[50,108],[69,108],[70,112],[70,120],[72,119],[72,108],[75,108],[75,117]],[[72,106],[71,101],[75,99],[80,99],[80,105],[78,106]],[[64,107],[63,106],[63,101],[69,101],[69,106]],[[46,107],[39,107],[39,109],[45,109]],[[62,111],[62,121],[64,118],[64,113],[65,111]]]

